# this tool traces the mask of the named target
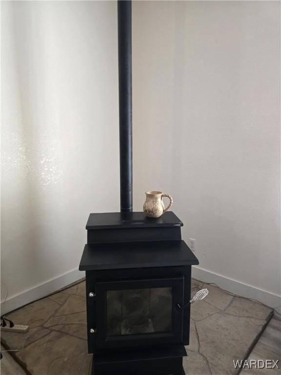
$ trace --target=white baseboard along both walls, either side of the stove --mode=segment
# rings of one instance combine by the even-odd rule
[[[50,293],[56,292],[59,289],[80,280],[84,276],[84,272],[77,269],[72,270],[52,280],[48,280],[28,291],[8,298],[5,303],[1,304],[1,315],[45,297]],[[205,283],[215,283],[221,289],[241,295],[242,297],[256,299],[257,301],[262,302],[264,305],[272,308],[276,308],[277,306],[281,305],[281,296],[277,294],[266,292],[247,284],[242,284],[239,281],[229,279],[228,277],[214,272],[203,270],[196,266],[192,267],[192,277]],[[278,312],[281,312],[281,308],[277,310]]]

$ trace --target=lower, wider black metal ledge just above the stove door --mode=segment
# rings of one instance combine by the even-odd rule
[[[198,259],[182,240],[85,245],[80,271],[190,266]]]

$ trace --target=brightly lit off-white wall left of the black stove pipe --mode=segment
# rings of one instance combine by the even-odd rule
[[[77,269],[89,213],[119,210],[117,4],[1,5],[1,280],[11,298]]]

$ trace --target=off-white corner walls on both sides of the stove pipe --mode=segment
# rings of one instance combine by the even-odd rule
[[[1,5],[9,310],[78,278],[89,212],[119,210],[117,5]],[[273,294],[279,27],[279,2],[133,2],[134,209],[171,193],[202,269]]]

